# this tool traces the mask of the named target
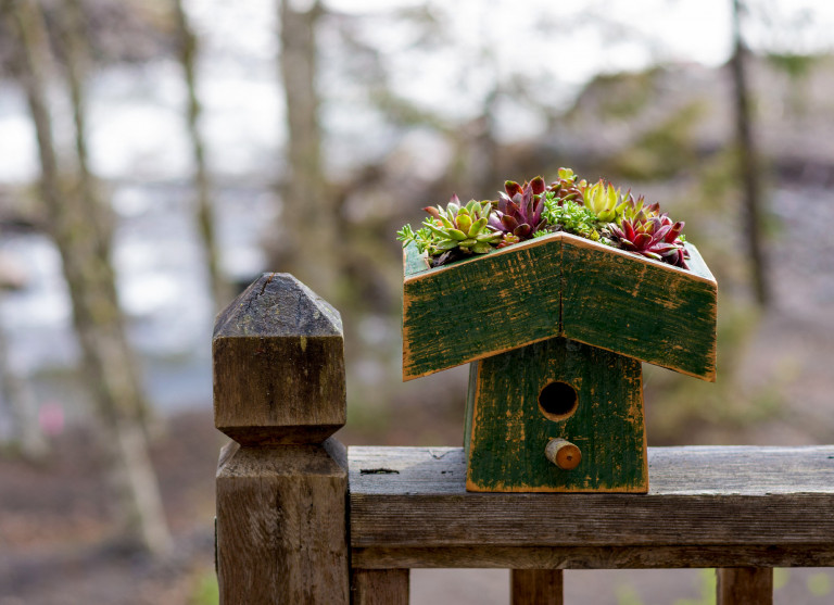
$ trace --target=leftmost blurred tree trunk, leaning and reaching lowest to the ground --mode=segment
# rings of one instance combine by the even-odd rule
[[[122,317],[113,270],[102,255],[100,225],[83,196],[65,196],[52,139],[45,88],[48,40],[34,0],[7,0],[10,25],[20,49],[16,72],[27,94],[38,140],[41,197],[48,228],[61,254],[73,302],[73,320],[84,352],[86,382],[92,390],[103,427],[97,431],[118,486],[118,511],[125,538],[151,552],[168,550],[170,535],[159,484],[140,421],[140,393],[132,360],[125,355]]]

